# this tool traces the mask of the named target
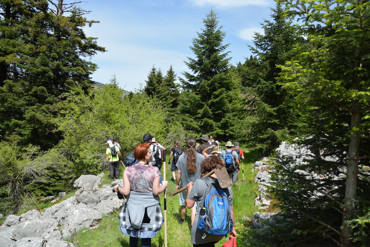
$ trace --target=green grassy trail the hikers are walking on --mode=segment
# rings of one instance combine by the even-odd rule
[[[233,186],[234,195],[234,213],[236,221],[236,231],[239,234],[239,229],[242,229],[244,224],[247,224],[242,218],[247,216],[252,218],[252,214],[258,211],[258,208],[254,206],[256,191],[258,185],[253,184],[253,178],[255,173],[252,173],[253,168],[253,157],[256,153],[246,153],[244,155],[244,178],[242,181],[242,169],[240,169],[240,193],[238,192],[238,185]],[[168,160],[168,159],[167,159]],[[121,170],[122,169],[122,170]],[[121,172],[124,167],[121,167]],[[163,172],[163,166],[161,169]],[[107,179],[107,174],[105,172],[105,179],[103,183],[109,183]],[[121,173],[122,174],[122,173]],[[167,246],[168,247],[192,247],[190,243],[190,210],[186,211],[185,222],[182,225],[178,224],[180,219],[179,214],[179,196],[172,196],[175,191],[175,184],[172,179],[172,172],[170,166],[166,164],[166,180],[169,182],[167,189]],[[160,195],[162,210],[163,210],[163,194]],[[118,220],[118,212],[112,213],[111,215],[105,216],[100,221],[100,225],[94,229],[83,229],[74,234],[73,239],[70,240],[75,243],[77,247],[83,246],[96,246],[96,247],[121,247],[129,246],[129,237],[121,234]],[[242,234],[237,237],[238,246],[245,246],[245,238]],[[225,243],[225,238],[223,238],[219,243],[216,244],[217,247],[221,247]],[[152,238],[153,247],[164,246],[164,224],[158,235]]]

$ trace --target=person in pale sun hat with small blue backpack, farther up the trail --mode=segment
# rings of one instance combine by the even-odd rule
[[[225,146],[226,149],[223,149],[221,152],[222,158],[225,162],[225,167],[228,170],[229,177],[232,183],[235,184],[236,180],[238,180],[240,168],[239,156],[235,150],[231,149],[234,146],[231,141],[228,141]]]

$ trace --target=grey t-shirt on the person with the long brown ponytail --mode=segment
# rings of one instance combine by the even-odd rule
[[[196,172],[189,173],[186,170],[186,153],[180,155],[176,162],[177,169],[181,170],[181,187],[186,187],[189,182],[195,182],[196,179],[201,177],[201,163],[205,159],[204,155],[195,152],[196,157]]]

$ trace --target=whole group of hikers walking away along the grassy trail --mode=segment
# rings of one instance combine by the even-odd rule
[[[191,209],[191,243],[196,247],[214,247],[223,236],[228,238],[229,233],[236,237],[233,193],[231,187],[220,187],[215,174],[201,177],[216,167],[225,167],[235,184],[244,155],[238,142],[233,145],[228,141],[226,149],[221,150],[219,142],[212,136],[202,135],[200,139],[202,144],[197,143],[194,137],[186,138],[186,151],[175,141],[169,162],[172,159],[171,171],[176,191],[187,187],[187,191],[179,193],[179,224],[185,221],[186,207]],[[110,178],[119,178],[120,145],[114,138],[108,139],[106,144]],[[130,247],[136,247],[139,238],[142,247],[151,246],[151,238],[158,234],[164,221],[159,204],[159,194],[168,187],[168,181],[162,180],[160,172],[164,150],[154,136],[145,134],[143,143],[136,146],[126,159],[123,186],[113,188],[121,194],[119,197],[127,197],[118,217],[121,232],[130,237]],[[213,227],[218,224],[215,222],[219,222],[217,229]]]

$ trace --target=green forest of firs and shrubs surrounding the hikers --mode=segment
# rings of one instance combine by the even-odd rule
[[[124,157],[148,132],[166,148],[207,134],[270,157],[287,141],[316,154],[300,169],[347,173],[310,200],[307,191],[332,182],[307,183],[276,159],[285,176],[275,176],[270,194],[295,220],[276,229],[275,246],[369,246],[369,4],[276,0],[249,46],[253,55],[238,65],[210,10],[194,30],[190,72],[153,65],[127,92],[115,75],[100,87],[91,80],[98,65],[89,58],[105,48],[83,31],[99,22],[87,10],[63,0],[1,0],[0,213],[34,207],[73,190],[80,175],[105,171],[110,136]]]

